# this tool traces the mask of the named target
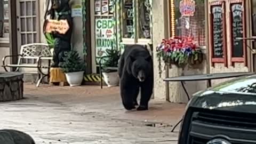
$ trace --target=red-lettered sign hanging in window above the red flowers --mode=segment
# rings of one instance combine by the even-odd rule
[[[180,1],[180,13],[184,17],[193,17],[196,10],[196,2],[194,0]]]

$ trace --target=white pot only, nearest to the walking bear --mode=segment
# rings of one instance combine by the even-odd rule
[[[108,85],[108,87],[118,86],[119,77],[118,77],[117,71],[111,72],[111,73],[102,73],[102,75],[103,75],[104,81]]]

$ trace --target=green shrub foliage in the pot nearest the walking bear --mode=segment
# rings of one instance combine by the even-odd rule
[[[107,57],[106,62],[103,63],[103,67],[117,67],[118,65],[118,60],[120,58],[120,52],[115,50],[114,48],[112,49],[107,49],[106,50]]]

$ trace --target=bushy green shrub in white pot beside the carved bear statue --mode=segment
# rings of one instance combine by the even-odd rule
[[[84,71],[86,64],[79,57],[79,53],[72,50],[65,53],[63,62],[60,62],[59,66],[62,68],[64,73],[73,73],[77,71]]]

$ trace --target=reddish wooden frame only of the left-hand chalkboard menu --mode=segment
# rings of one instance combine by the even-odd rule
[[[214,58],[214,48],[213,48],[213,27],[212,27],[212,6],[222,6],[222,35],[223,35],[223,58]],[[227,26],[226,26],[226,2],[225,1],[216,1],[216,2],[209,2],[209,55],[211,59],[211,66],[214,67],[215,63],[224,63],[224,66],[227,67],[228,61],[227,61],[227,37],[226,37],[226,31],[227,31]]]

